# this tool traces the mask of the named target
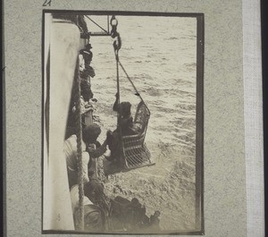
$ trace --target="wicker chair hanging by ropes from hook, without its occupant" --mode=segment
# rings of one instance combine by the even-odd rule
[[[117,93],[118,93],[118,107],[119,111],[117,113],[118,117],[118,128],[120,131],[119,142],[120,142],[120,162],[123,170],[127,171],[130,169],[146,166],[155,165],[151,163],[151,154],[145,144],[145,137],[147,133],[147,125],[150,118],[150,111],[145,104],[143,98],[138,93],[138,89],[135,87],[130,76],[124,69],[123,65],[119,60],[119,50],[121,49],[121,38],[120,34],[117,32],[118,21],[113,16],[111,19],[112,31],[111,36],[114,38],[113,49],[116,60],[116,74],[117,74]],[[128,80],[130,81],[133,89],[135,89],[135,95],[140,98],[140,103],[138,104],[136,114],[133,123],[138,129],[138,134],[122,136],[121,134],[121,106],[120,105],[120,80],[119,80],[119,66],[121,66],[122,71],[126,74]]]

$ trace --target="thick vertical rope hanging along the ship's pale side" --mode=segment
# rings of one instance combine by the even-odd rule
[[[79,222],[78,228],[80,231],[84,230],[84,177],[83,177],[83,166],[82,166],[82,124],[80,115],[80,70],[79,70],[79,58],[77,60],[76,72],[74,78],[75,87],[75,102],[76,102],[76,137],[77,137],[77,166],[78,166],[78,183],[79,183]]]

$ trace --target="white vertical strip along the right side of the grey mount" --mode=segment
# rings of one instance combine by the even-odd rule
[[[247,236],[264,236],[264,134],[259,0],[243,0]]]

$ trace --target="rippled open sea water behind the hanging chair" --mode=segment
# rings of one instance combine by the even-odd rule
[[[148,216],[160,210],[164,231],[192,230],[197,201],[197,19],[117,16],[117,20],[120,61],[151,112],[146,143],[155,165],[113,175],[105,184],[106,192],[114,197],[138,198],[146,205]],[[90,43],[91,65],[96,72],[91,80],[97,99],[96,123],[102,127],[103,141],[105,131],[116,127],[113,38],[91,37]],[[134,114],[138,97],[121,68],[119,80],[121,101],[130,101]]]

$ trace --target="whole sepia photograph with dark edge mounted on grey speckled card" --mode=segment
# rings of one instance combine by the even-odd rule
[[[204,15],[42,23],[42,233],[204,234]]]

